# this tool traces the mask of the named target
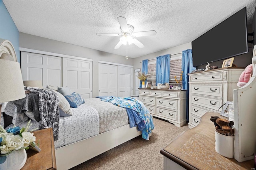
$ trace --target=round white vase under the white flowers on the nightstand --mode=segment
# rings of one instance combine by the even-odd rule
[[[0,170],[20,170],[26,163],[27,153],[25,149],[11,152],[0,157]]]

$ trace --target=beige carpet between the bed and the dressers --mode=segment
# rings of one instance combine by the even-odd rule
[[[150,140],[138,136],[71,170],[163,170],[164,159],[160,150],[189,128],[188,124],[178,128],[156,118],[153,122],[155,128]]]

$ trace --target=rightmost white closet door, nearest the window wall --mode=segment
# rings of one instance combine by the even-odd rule
[[[132,67],[118,65],[118,97],[132,95]]]

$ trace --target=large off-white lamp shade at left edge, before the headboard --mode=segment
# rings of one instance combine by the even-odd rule
[[[0,59],[0,103],[26,97],[20,63]]]

